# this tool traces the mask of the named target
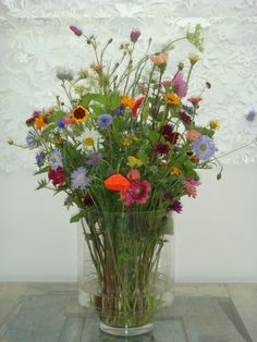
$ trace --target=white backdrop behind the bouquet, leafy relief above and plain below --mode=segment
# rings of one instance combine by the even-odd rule
[[[200,120],[220,120],[217,145],[223,152],[257,135],[257,120],[244,117],[257,110],[256,0],[0,1],[0,280],[76,276],[76,232],[61,198],[35,193],[34,156],[4,145],[7,138],[24,142],[24,120],[62,95],[57,65],[78,70],[93,62],[69,25],[102,42],[112,37],[113,48],[139,28],[139,47],[152,37],[156,52],[196,23],[204,27],[206,49],[191,87],[211,83]],[[178,45],[171,65],[188,52],[194,52],[189,45]],[[178,280],[257,281],[257,147],[230,155],[224,163],[223,180],[203,174],[199,198],[186,200],[185,212],[176,217]]]

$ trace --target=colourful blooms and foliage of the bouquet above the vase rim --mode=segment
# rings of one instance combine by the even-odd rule
[[[36,110],[26,121],[27,147],[37,150],[36,174],[47,174],[38,188],[65,192],[65,205],[79,208],[72,221],[91,209],[181,212],[181,198],[196,197],[197,170],[213,162],[219,122],[197,124],[203,99],[186,97],[199,57],[188,57],[187,75],[183,63],[172,76],[166,69],[168,53],[179,40],[187,39],[203,51],[200,26],[158,53],[149,53],[149,40],[138,61],[133,52],[140,32],[132,30],[113,65],[105,64],[112,39],[99,51],[95,36],[70,28],[93,48],[96,61],[76,76],[58,69],[68,99],[57,97],[54,107]]]

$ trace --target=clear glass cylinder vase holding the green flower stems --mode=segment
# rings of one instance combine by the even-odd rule
[[[90,211],[78,231],[78,302],[95,306],[100,329],[135,335],[173,298],[172,216],[160,211]]]

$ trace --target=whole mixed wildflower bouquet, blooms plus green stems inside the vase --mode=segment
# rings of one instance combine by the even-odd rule
[[[137,60],[140,32],[135,29],[120,47],[120,60],[109,64],[105,52],[112,39],[99,49],[95,36],[70,28],[93,49],[95,62],[76,76],[59,69],[65,99],[57,97],[52,108],[36,110],[26,121],[27,148],[37,150],[36,174],[45,174],[38,188],[64,192],[65,205],[78,208],[71,221],[82,219],[100,292],[112,296],[98,298],[101,315],[110,307],[122,308],[123,314],[149,312],[151,300],[142,298],[149,292],[150,274],[166,242],[167,212],[181,212],[183,196],[196,197],[197,170],[211,166],[216,150],[219,122],[199,125],[203,91],[187,97],[198,56],[188,57],[186,74],[179,63],[167,75],[169,52],[176,41],[186,39],[203,51],[200,26],[158,53],[149,52],[149,40]],[[121,298],[121,293],[130,300]],[[147,322],[146,317],[130,317],[132,326]],[[123,320],[120,314],[108,316],[109,323],[120,326]]]

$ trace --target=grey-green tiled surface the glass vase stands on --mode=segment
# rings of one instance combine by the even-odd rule
[[[75,284],[0,284],[1,342],[257,342],[257,284],[178,284],[151,333],[113,338],[77,305]]]

